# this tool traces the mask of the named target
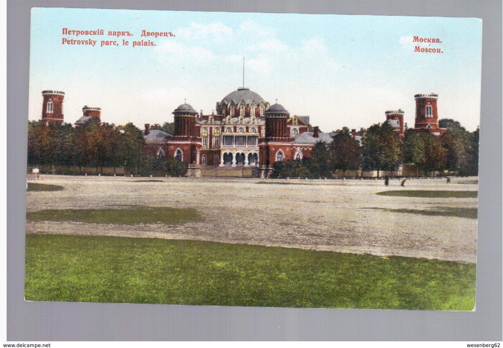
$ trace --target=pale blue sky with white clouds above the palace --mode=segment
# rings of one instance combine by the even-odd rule
[[[103,29],[104,36],[63,35]],[[108,31],[129,31],[125,39]],[[175,37],[140,37],[142,30]],[[417,44],[413,36],[442,43]],[[97,40],[95,47],[63,38]],[[402,109],[414,123],[414,94],[438,93],[439,118],[469,130],[480,119],[482,22],[476,18],[175,12],[101,9],[32,10],[29,119],[39,119],[43,90],[65,92],[65,121],[84,105],[124,124],[173,120],[187,98],[211,113],[242,86],[323,131],[368,127]],[[132,47],[151,40],[155,46]],[[119,46],[100,47],[101,40]],[[417,53],[414,46],[441,48]],[[429,46],[431,45],[431,46]]]

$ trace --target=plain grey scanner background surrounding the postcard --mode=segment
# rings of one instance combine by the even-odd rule
[[[24,302],[31,7],[480,17],[483,19],[475,312]],[[7,3],[8,340],[502,339],[501,1],[17,1]]]

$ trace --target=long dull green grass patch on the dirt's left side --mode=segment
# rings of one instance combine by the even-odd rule
[[[46,209],[26,213],[33,221],[75,221],[95,224],[184,224],[202,221],[203,217],[192,208],[133,205],[128,208],[109,209]]]

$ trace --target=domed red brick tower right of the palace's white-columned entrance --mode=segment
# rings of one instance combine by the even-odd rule
[[[264,112],[266,133],[259,140],[260,177],[271,175],[273,164],[293,159],[292,144],[287,122],[290,113],[280,104],[271,105]]]

